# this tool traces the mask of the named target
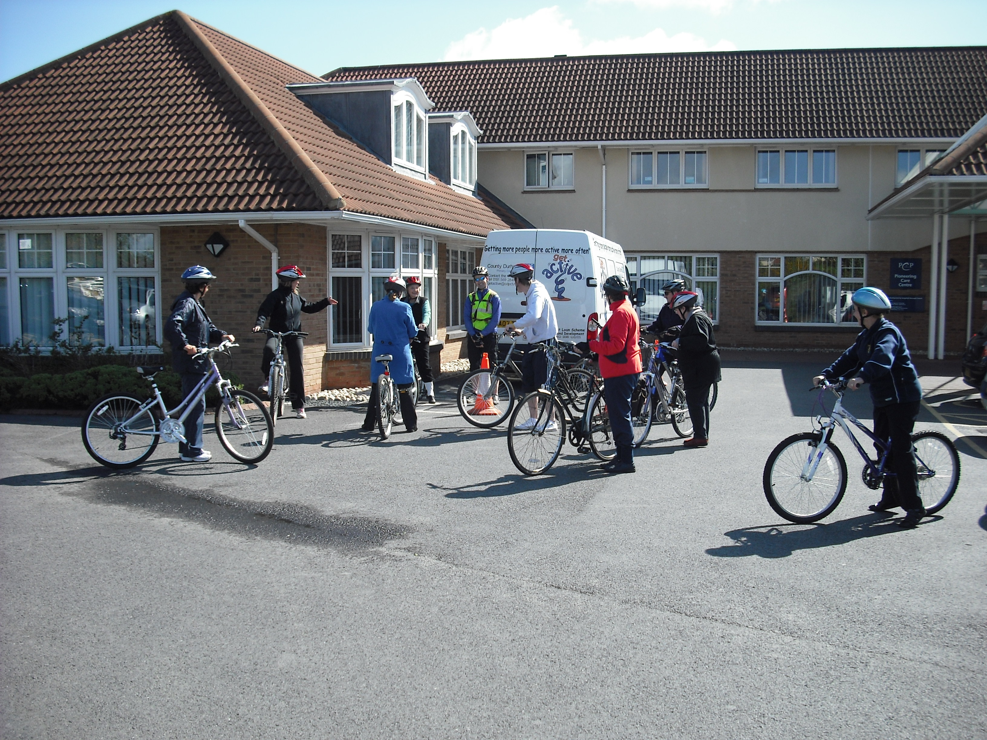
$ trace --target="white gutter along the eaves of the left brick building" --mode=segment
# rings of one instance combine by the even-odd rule
[[[422,226],[411,221],[401,221],[396,218],[386,218],[384,216],[369,216],[352,211],[273,211],[270,213],[258,213],[251,211],[241,211],[234,213],[163,213],[157,215],[140,216],[57,216],[52,218],[9,218],[0,219],[0,227],[8,229],[34,228],[46,226],[57,228],[61,226],[101,226],[114,224],[142,224],[146,226],[185,226],[193,224],[237,224],[241,220],[250,219],[251,223],[272,224],[272,223],[316,223],[326,224],[329,221],[353,221],[357,223],[370,224],[387,227],[390,229],[417,231],[421,234],[447,237],[450,239],[466,240],[471,242],[484,243],[486,236],[476,234],[464,234],[450,229],[439,229],[434,226]]]

